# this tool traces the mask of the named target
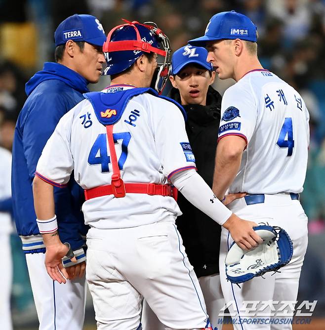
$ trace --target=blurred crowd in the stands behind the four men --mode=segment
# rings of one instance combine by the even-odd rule
[[[298,299],[318,300],[314,315],[325,317],[325,0],[0,0],[0,145],[11,150],[25,83],[43,62],[54,61],[54,30],[66,17],[93,14],[106,33],[121,18],[154,21],[176,50],[202,36],[212,15],[232,9],[257,25],[262,65],[294,86],[310,112],[309,163],[301,194],[309,217],[309,248]],[[91,89],[108,83],[102,77]],[[214,88],[223,93],[233,83],[216,80]],[[36,313],[14,229],[12,254],[12,311],[18,329],[35,322]]]

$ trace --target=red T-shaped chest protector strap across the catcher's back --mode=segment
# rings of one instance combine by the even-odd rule
[[[177,189],[167,184],[155,183],[124,183],[121,178],[118,159],[113,139],[113,125],[106,126],[108,146],[110,148],[111,163],[113,166],[112,183],[110,185],[86,189],[84,191],[85,200],[95,197],[114,195],[116,198],[124,197],[126,193],[131,194],[148,194],[170,196],[177,200]]]

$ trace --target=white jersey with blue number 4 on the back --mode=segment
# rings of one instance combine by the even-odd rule
[[[246,140],[229,193],[300,193],[305,181],[309,114],[299,93],[267,70],[252,70],[222,99],[219,140]]]

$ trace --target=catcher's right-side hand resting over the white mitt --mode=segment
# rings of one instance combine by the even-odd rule
[[[234,213],[223,224],[236,244],[244,250],[256,248],[263,242],[253,229],[256,226],[258,226],[257,223],[241,219]]]

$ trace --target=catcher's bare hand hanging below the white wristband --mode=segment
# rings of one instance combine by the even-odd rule
[[[62,258],[67,254],[69,248],[60,243],[46,246],[45,252],[45,267],[47,274],[53,281],[57,281],[60,284],[66,283],[66,279],[69,279],[69,274],[63,267]],[[76,258],[73,257],[72,261],[76,262]]]

